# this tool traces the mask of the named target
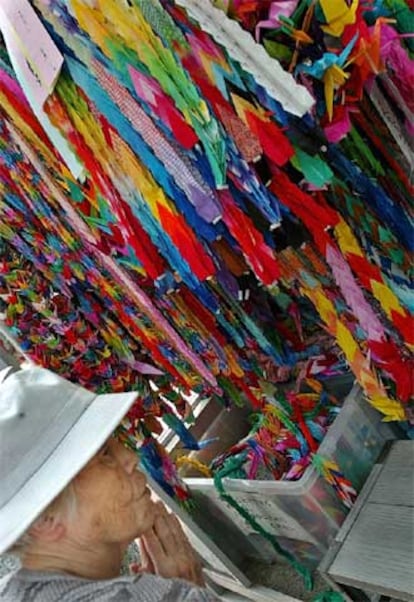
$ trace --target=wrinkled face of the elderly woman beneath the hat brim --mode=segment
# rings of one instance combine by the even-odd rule
[[[88,543],[130,543],[154,523],[156,506],[135,454],[111,438],[75,477],[76,529]]]

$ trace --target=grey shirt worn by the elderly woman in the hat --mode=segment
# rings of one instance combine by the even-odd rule
[[[1,602],[218,602],[213,594],[179,579],[143,574],[92,581],[20,569],[0,579]]]

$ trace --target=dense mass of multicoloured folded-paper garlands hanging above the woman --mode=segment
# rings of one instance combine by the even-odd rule
[[[150,370],[166,395],[191,388],[260,409],[266,380],[343,353],[369,401],[404,420],[406,4],[224,3],[263,46],[207,3],[33,5],[63,67],[46,102],[28,102],[25,71],[0,45],[0,238],[39,275],[37,361],[64,372],[75,350],[74,374],[96,384],[79,333],[92,365],[112,349],[122,376]],[[20,285],[8,283],[9,319],[30,338]],[[104,366],[102,381],[115,360]],[[162,411],[148,411],[152,427]],[[156,466],[152,440],[145,450]]]

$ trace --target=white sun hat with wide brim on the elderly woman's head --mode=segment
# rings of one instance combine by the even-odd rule
[[[0,372],[0,554],[89,462],[137,396],[96,395],[44,368]]]

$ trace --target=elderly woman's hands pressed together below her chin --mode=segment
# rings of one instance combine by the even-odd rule
[[[185,579],[203,587],[201,563],[178,519],[161,502],[157,502],[157,510],[152,529],[138,540],[140,571],[170,579]]]

